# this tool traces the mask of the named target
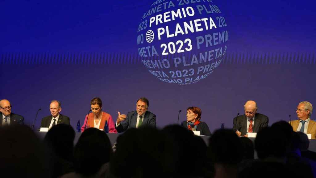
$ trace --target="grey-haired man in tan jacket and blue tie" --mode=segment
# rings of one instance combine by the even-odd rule
[[[316,139],[316,122],[310,117],[313,112],[313,105],[308,101],[303,101],[296,108],[298,120],[291,121],[291,126],[294,131],[311,134],[312,139]]]

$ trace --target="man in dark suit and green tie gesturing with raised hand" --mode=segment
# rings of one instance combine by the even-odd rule
[[[136,102],[136,111],[127,114],[120,114],[116,120],[115,129],[118,132],[124,132],[129,128],[138,128],[148,125],[156,128],[156,115],[147,111],[149,101],[147,98],[140,98]]]

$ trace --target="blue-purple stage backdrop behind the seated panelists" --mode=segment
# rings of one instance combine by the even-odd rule
[[[206,13],[208,4],[216,5],[212,6],[214,13]],[[39,128],[41,118],[50,115],[52,99],[62,102],[61,113],[70,117],[73,127],[77,120],[83,124],[94,97],[102,99],[103,111],[110,113],[114,121],[118,111],[133,111],[136,100],[147,97],[149,111],[157,115],[158,127],[176,123],[179,110],[180,121],[185,120],[186,108],[197,106],[211,131],[221,123],[231,128],[232,119],[238,112],[243,114],[243,105],[250,99],[257,101],[259,113],[269,116],[270,125],[288,120],[289,115],[296,119],[299,102],[316,105],[315,5],[313,1],[281,0],[1,1],[0,99],[9,99],[12,112],[23,115],[29,125],[41,108],[35,128]],[[185,11],[187,7],[195,10],[194,16],[189,16],[190,8]],[[153,8],[157,12],[153,13]],[[150,17],[181,8],[186,18],[164,22],[162,17],[163,23],[158,21],[155,26],[153,21],[149,28]],[[203,18],[207,19],[199,23],[204,31],[179,32],[179,36],[170,38],[166,35],[167,25],[170,34],[175,34],[176,23],[183,27],[184,22]],[[210,18],[217,28],[205,31],[204,22],[210,28]],[[146,29],[142,25],[145,20]],[[165,30],[161,41],[158,28]],[[153,42],[148,42],[146,32],[149,37],[155,35]],[[216,38],[217,32],[224,32],[218,47],[214,40],[214,46],[197,49],[197,39],[207,41],[208,34]],[[170,42],[180,40],[186,45],[187,38],[192,40],[193,50],[161,55],[161,43],[172,53]],[[152,50],[153,45],[159,55],[141,53],[149,54],[147,48],[142,48],[150,46]],[[198,54],[220,47],[222,56],[216,59],[219,53],[213,51],[214,60],[201,63]],[[197,54],[197,60],[193,54]],[[164,59],[170,67],[153,67],[151,61]],[[175,62],[191,66],[180,70]],[[214,68],[210,67],[213,63]],[[194,75],[190,76],[191,68]],[[160,75],[162,71],[168,78]],[[181,82],[172,80],[172,75]]]

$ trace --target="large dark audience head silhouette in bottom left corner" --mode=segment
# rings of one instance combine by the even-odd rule
[[[0,128],[1,177],[51,177],[50,149],[25,125]]]

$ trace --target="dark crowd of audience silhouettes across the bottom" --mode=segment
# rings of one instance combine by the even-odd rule
[[[286,121],[262,128],[254,142],[231,129],[200,137],[180,125],[131,128],[117,137],[114,153],[95,128],[81,133],[75,147],[75,131],[63,124],[43,141],[25,125],[0,128],[0,135],[1,177],[316,177],[307,135]]]

